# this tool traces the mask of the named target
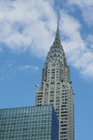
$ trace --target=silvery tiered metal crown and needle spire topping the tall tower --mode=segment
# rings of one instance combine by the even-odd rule
[[[45,65],[44,65],[44,69],[43,69],[43,72],[42,72],[42,80],[43,81],[47,81],[47,79],[48,79],[48,75],[47,75],[48,64],[52,60],[58,61],[59,64],[60,64],[59,80],[67,81],[67,80],[65,80],[65,77],[67,77],[65,75],[66,75],[66,71],[67,72],[69,71],[69,67],[67,66],[65,53],[64,53],[64,50],[63,50],[63,46],[61,45],[61,41],[60,41],[59,19],[58,19],[58,24],[57,24],[57,31],[56,31],[55,40],[53,42],[53,45],[50,47],[50,50],[49,50],[48,55],[46,57],[46,62],[45,62]]]

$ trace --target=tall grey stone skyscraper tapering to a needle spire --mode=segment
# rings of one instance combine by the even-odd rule
[[[60,41],[59,21],[55,40],[42,70],[41,85],[36,86],[35,106],[52,104],[59,119],[59,140],[74,140],[74,93]]]

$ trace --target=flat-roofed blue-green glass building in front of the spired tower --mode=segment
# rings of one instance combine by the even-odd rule
[[[52,105],[0,109],[0,140],[58,140]]]

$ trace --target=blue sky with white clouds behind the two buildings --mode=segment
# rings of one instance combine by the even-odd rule
[[[92,0],[0,0],[0,108],[34,105],[58,12],[76,94],[75,139],[93,140]]]

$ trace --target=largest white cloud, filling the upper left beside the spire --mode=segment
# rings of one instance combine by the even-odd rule
[[[45,55],[55,27],[52,0],[0,1],[0,42],[13,50],[29,49],[37,56]]]

